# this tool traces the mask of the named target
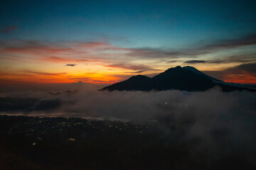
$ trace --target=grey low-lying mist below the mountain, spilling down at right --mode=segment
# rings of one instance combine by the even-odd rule
[[[4,111],[2,114],[154,122],[163,139],[170,140],[176,134],[175,137],[181,136],[178,141],[189,141],[192,157],[201,157],[203,153],[209,159],[238,157],[245,164],[255,164],[256,94],[249,91],[224,93],[215,88],[204,92],[109,92],[87,87],[58,94],[12,92],[5,97],[38,98],[36,104],[59,101],[59,105],[47,111]],[[183,127],[182,132],[178,132],[183,135],[177,135],[169,128],[170,124]]]

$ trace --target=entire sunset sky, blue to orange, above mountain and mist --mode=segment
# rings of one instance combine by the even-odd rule
[[[0,84],[113,84],[192,66],[256,84],[255,1],[4,1]]]

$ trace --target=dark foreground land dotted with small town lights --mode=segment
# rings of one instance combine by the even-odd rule
[[[255,169],[225,130],[205,145],[190,122],[0,116],[1,169]],[[214,148],[213,148],[214,146]]]

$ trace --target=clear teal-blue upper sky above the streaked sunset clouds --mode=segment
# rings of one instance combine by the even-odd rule
[[[127,40],[133,47],[186,47],[256,30],[254,1],[8,1],[1,40]]]

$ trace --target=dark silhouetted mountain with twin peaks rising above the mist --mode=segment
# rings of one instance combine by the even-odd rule
[[[100,91],[164,91],[170,89],[180,91],[206,91],[214,86],[220,86],[223,91],[241,91],[244,89],[255,91],[239,86],[230,86],[189,66],[173,67],[152,78],[137,75],[125,81],[106,86],[100,89]]]

